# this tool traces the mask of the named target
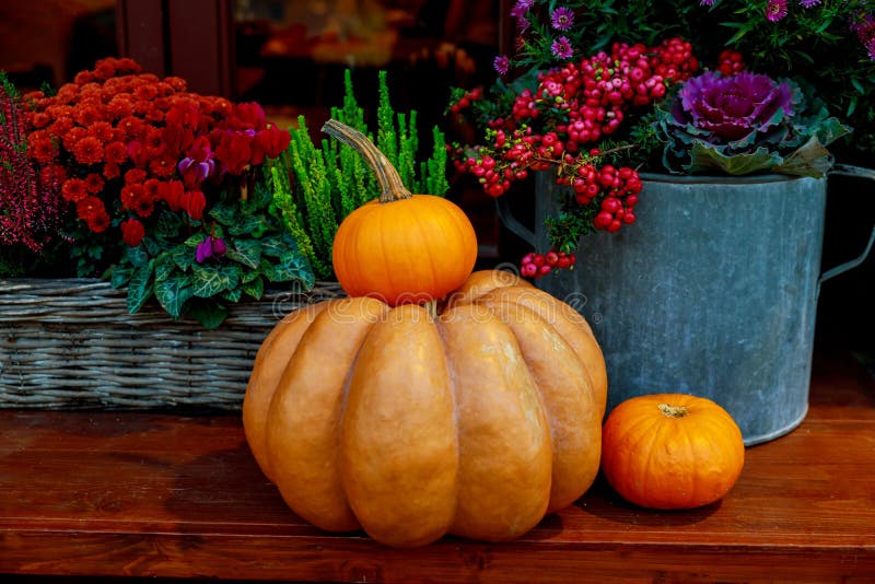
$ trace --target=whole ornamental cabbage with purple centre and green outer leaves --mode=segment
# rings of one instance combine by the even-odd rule
[[[654,124],[674,173],[778,172],[821,176],[826,145],[850,132],[792,81],[740,72],[705,72],[682,84]]]

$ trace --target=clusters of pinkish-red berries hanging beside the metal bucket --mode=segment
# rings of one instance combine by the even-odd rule
[[[586,223],[574,227],[557,248],[576,242],[581,229],[616,232],[635,221],[633,208],[641,192],[638,172],[609,164],[611,149],[591,147],[614,135],[628,113],[665,96],[666,87],[686,81],[698,71],[699,61],[689,43],[670,38],[654,47],[615,44],[610,52],[598,52],[580,61],[539,73],[537,86],[524,89],[508,100],[508,109],[490,109],[486,142],[453,150],[456,168],[474,174],[483,190],[499,197],[514,180],[532,171],[558,167],[557,183],[574,191]],[[474,94],[478,100],[480,93]],[[459,94],[450,110],[459,113],[472,104],[472,95]],[[476,100],[474,100],[476,101]],[[588,224],[588,227],[585,225]],[[551,237],[552,238],[552,237]],[[528,258],[528,256],[526,256]],[[534,255],[533,258],[540,257]],[[546,256],[545,256],[546,257]],[[538,275],[546,262],[524,259],[524,276]],[[564,262],[563,262],[564,264]],[[532,267],[529,267],[532,266]]]

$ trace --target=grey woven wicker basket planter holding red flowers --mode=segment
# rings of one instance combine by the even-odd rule
[[[97,280],[0,280],[0,407],[240,409],[265,337],[289,312],[342,295],[337,283],[267,293],[222,326],[135,315]]]

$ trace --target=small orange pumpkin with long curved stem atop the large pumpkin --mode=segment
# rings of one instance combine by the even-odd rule
[[[395,306],[441,299],[462,285],[477,259],[477,237],[465,212],[443,197],[411,195],[358,130],[331,119],[323,131],[355,149],[382,189],[335,234],[332,264],[347,294]]]

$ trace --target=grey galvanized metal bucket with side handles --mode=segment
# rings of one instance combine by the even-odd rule
[[[544,174],[544,173],[541,173]],[[832,174],[875,179],[837,166]],[[539,285],[583,314],[608,369],[608,409],[637,395],[689,393],[723,406],[745,444],[781,436],[808,408],[820,284],[861,264],[820,272],[827,179],[779,175],[642,175],[638,222],[581,241],[578,265]],[[505,224],[539,248],[559,187],[539,176],[536,233]]]

